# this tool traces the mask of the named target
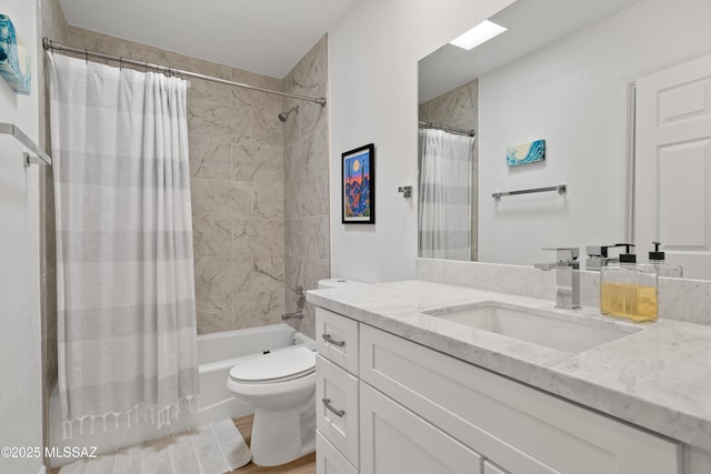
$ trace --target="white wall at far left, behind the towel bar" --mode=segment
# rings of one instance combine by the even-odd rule
[[[38,139],[38,7],[8,0],[10,17],[33,52],[32,94],[16,95],[0,79],[0,122],[14,123]],[[39,304],[39,181],[26,170],[22,148],[0,135],[0,446],[42,446]],[[41,458],[0,457],[2,473],[38,473]]]

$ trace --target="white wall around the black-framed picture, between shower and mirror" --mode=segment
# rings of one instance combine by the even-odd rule
[[[419,59],[512,0],[362,0],[329,31],[331,274],[414,278]],[[341,224],[341,153],[375,144],[375,224]]]

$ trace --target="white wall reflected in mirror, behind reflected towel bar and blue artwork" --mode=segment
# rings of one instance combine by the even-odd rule
[[[541,248],[624,238],[627,83],[711,53],[709,0],[647,0],[479,80],[479,258],[531,264]],[[673,21],[670,21],[673,19]],[[505,148],[547,140],[543,163]],[[494,191],[567,183],[568,194]],[[645,258],[649,242],[638,242]]]

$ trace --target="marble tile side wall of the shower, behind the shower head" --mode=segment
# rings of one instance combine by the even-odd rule
[[[323,37],[284,77],[284,91],[328,95],[328,52]],[[330,275],[329,244],[329,143],[328,105],[283,100],[283,109],[299,105],[284,123],[284,269],[288,311],[296,311],[294,290],[317,288]],[[297,322],[314,336],[316,315],[307,303],[306,316]]]

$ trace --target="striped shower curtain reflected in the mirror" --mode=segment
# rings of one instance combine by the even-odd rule
[[[474,138],[420,129],[420,256],[471,260]]]

